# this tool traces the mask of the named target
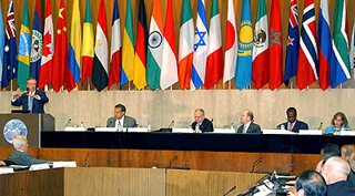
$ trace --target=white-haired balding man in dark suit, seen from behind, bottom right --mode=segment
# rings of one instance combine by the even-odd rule
[[[355,195],[355,187],[347,180],[349,164],[341,157],[331,157],[322,167],[322,175],[327,184],[327,195]]]

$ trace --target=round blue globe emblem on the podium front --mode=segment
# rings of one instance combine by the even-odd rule
[[[10,120],[3,127],[3,136],[10,144],[12,144],[12,140],[18,135],[27,136],[27,126],[21,120]]]

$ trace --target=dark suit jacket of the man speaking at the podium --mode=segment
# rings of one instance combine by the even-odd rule
[[[29,92],[23,93],[19,99],[17,99],[14,102],[11,102],[14,106],[21,106],[22,110],[29,110],[28,102],[29,102]],[[32,112],[34,114],[44,114],[44,104],[48,103],[49,99],[47,97],[45,93],[43,91],[36,91],[36,95],[39,95],[41,100],[37,100],[33,97],[32,102]]]

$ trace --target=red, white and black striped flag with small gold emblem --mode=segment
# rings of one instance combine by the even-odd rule
[[[104,0],[100,2],[99,19],[97,25],[95,54],[93,59],[92,83],[100,92],[109,84],[109,44],[108,23]]]

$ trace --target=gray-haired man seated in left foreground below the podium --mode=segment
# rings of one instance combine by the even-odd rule
[[[52,163],[51,161],[37,159],[28,153],[29,142],[23,135],[18,135],[12,140],[13,151],[8,156],[8,161],[16,163],[17,165],[31,166],[33,164]]]

